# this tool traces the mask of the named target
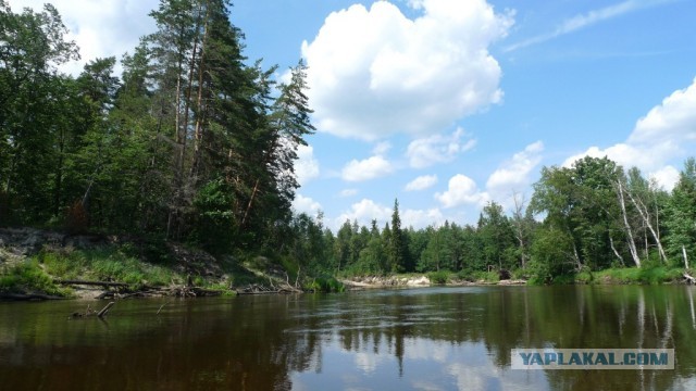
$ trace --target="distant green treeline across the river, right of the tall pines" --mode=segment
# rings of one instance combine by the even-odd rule
[[[370,227],[346,222],[334,235],[300,215],[291,230],[301,239],[294,241],[294,258],[348,274],[507,269],[550,282],[609,267],[685,267],[696,262],[696,161],[686,161],[671,193],[637,168],[584,157],[571,167],[544,167],[529,203],[518,194],[506,213],[492,201],[475,226],[405,229],[395,202],[382,229],[376,220]]]

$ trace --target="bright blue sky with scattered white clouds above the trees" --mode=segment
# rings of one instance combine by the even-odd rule
[[[10,0],[13,10],[42,1]],[[53,2],[83,61],[153,29],[156,0]],[[671,189],[696,155],[691,0],[238,0],[246,54],[309,65],[316,135],[295,207],[405,225],[473,224],[585,154]],[[82,65],[69,65],[76,72]],[[282,77],[279,74],[278,77]]]

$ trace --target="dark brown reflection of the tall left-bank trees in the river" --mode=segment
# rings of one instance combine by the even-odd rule
[[[39,319],[41,327],[61,329],[39,333],[63,337],[36,341],[32,332],[0,343],[2,389],[290,389],[288,371],[310,367],[318,336],[285,332],[296,326],[286,316],[297,305],[293,298],[259,299],[190,302],[164,318],[153,315],[157,306],[135,318],[122,311],[109,330],[96,319]],[[76,330],[78,338],[65,338]],[[17,351],[15,363],[4,361]]]

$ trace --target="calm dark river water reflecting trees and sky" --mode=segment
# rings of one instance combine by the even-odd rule
[[[2,390],[696,390],[692,287],[467,287],[0,303]],[[92,306],[105,303],[90,302]],[[513,370],[519,348],[673,348],[674,370]]]

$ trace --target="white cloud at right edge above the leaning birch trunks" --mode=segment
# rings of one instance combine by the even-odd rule
[[[696,144],[696,79],[672,92],[639,118],[625,142],[608,148],[591,147],[563,162],[571,166],[584,156],[608,156],[624,168],[638,167],[657,179],[664,189],[674,187],[679,176],[673,165],[681,164]]]

